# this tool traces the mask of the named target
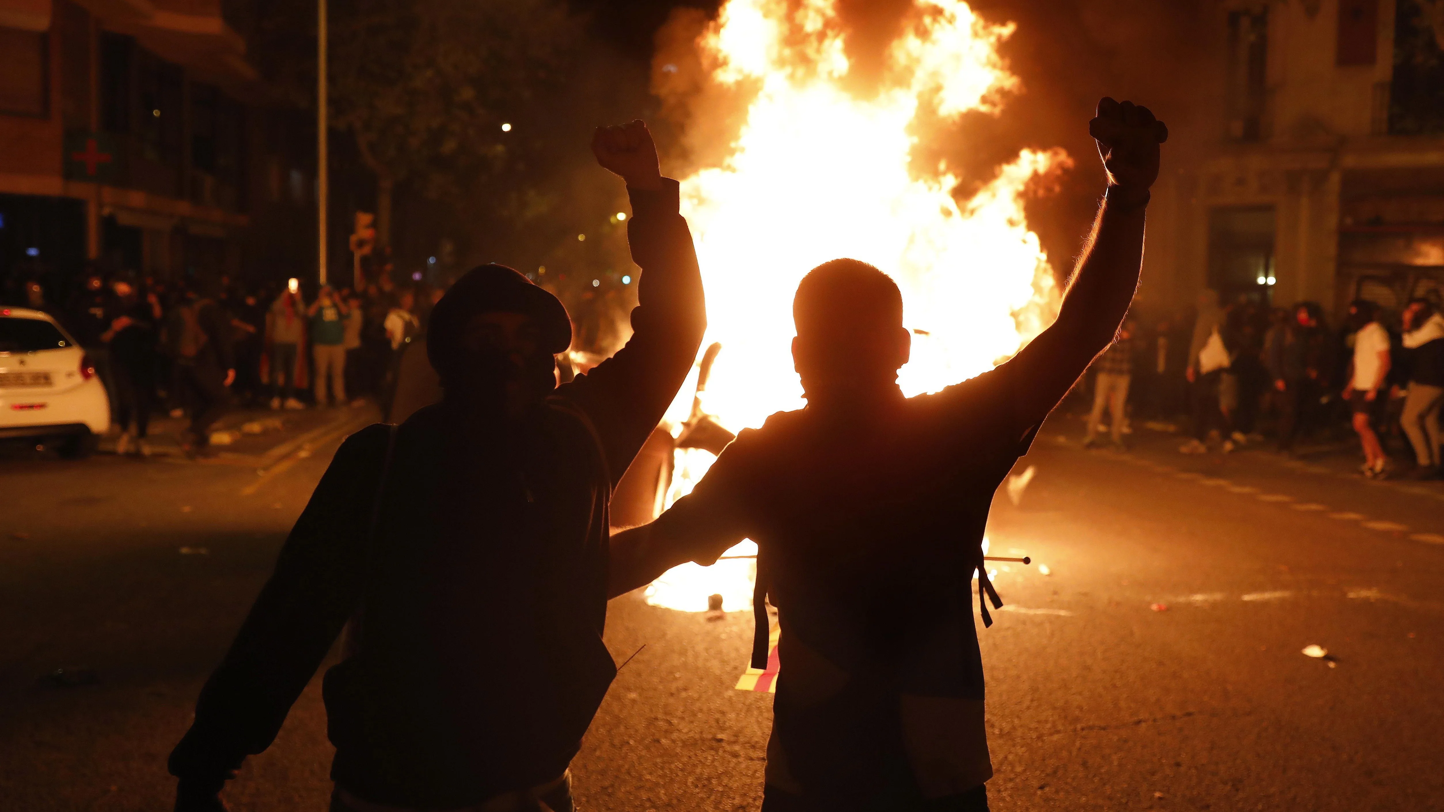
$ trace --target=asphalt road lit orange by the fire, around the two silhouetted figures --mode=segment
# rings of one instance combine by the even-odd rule
[[[0,453],[0,808],[169,808],[196,691],[355,420],[206,464]],[[989,529],[1034,557],[999,568],[980,632],[993,809],[1444,806],[1444,486],[1154,434],[1083,451],[1058,440],[1076,425],[1050,424]],[[573,764],[582,809],[757,809],[749,635],[748,613],[612,603],[618,662],[645,649]],[[56,668],[94,682],[38,681]],[[325,809],[329,759],[318,678],[227,798]]]

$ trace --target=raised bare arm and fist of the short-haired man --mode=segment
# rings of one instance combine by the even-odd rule
[[[1158,177],[1158,146],[1168,130],[1147,107],[1105,98],[1089,123],[1108,170],[1108,193],[1093,221],[1057,322],[1009,362],[1019,375],[1017,404],[1034,425],[1067,394],[1113,340],[1138,288],[1144,211]]]

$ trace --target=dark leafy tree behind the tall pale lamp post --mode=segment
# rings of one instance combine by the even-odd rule
[[[264,4],[261,69],[310,107],[313,6]],[[375,177],[378,247],[391,242],[397,185],[458,200],[540,160],[543,137],[503,124],[563,91],[583,35],[560,0],[332,0],[328,26],[329,123]]]

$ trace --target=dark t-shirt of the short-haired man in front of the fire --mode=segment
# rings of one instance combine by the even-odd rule
[[[775,414],[658,519],[699,564],[758,544],[783,626],[768,785],[881,809],[992,776],[970,578],[993,490],[1035,433],[1014,378],[1005,363],[898,392],[866,420]]]

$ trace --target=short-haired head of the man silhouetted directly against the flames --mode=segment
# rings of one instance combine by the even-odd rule
[[[892,391],[913,349],[897,283],[858,260],[809,271],[793,299],[793,365],[813,404]]]

